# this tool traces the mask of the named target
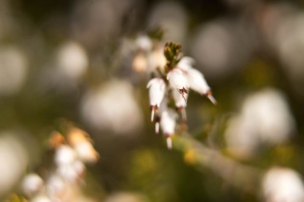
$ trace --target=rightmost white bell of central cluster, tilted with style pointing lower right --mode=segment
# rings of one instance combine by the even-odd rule
[[[206,95],[213,104],[217,104],[215,98],[212,96],[210,86],[207,84],[204,75],[199,70],[195,68],[189,68],[186,71],[186,76],[189,88],[201,95]]]

